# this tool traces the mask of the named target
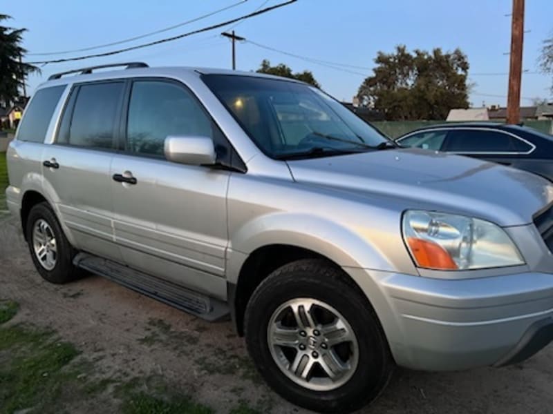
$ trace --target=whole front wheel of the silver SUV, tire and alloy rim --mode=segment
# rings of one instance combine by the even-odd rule
[[[290,306],[287,307],[287,304]],[[304,311],[310,308],[310,312],[302,313],[301,304],[305,304]],[[292,306],[299,311],[292,313]],[[330,321],[331,319],[327,321],[324,319],[330,317],[331,313],[338,314],[337,319],[332,319],[330,324],[321,323],[321,321]],[[311,315],[312,318],[306,319],[300,314]],[[308,323],[298,323],[297,315],[300,315],[301,321],[308,321]],[[316,315],[318,316],[315,317]],[[341,318],[344,318],[345,322],[338,325],[337,321]],[[343,335],[353,339],[332,346],[330,342],[332,329],[328,326],[333,324],[342,326],[340,337]],[[286,331],[284,336],[273,334],[272,326],[292,329],[294,333],[292,336],[290,331]],[[306,335],[298,336],[294,339],[294,345],[288,347],[288,342],[291,341],[290,338],[294,338],[295,332],[299,330],[299,334],[302,334],[301,331],[307,326],[320,329],[306,328],[306,331],[303,331]],[[350,329],[353,331],[353,336],[350,335]],[[317,335],[317,332],[318,337],[312,336]],[[270,335],[273,335],[271,339]],[[286,264],[263,280],[247,304],[245,338],[248,352],[259,372],[274,391],[286,400],[312,411],[323,413],[355,411],[375,400],[384,390],[393,373],[394,363],[388,343],[371,304],[353,281],[345,277],[341,269],[324,259],[302,259]],[[277,343],[277,339],[274,338],[287,345],[270,346],[270,340],[272,344]],[[302,342],[303,340],[307,342]],[[330,346],[321,348],[323,342]],[[338,349],[338,346],[342,348]],[[347,355],[350,369],[344,371],[346,374],[341,379],[336,376],[332,380],[328,375],[328,379],[321,380],[325,381],[326,385],[316,384],[314,380],[319,381],[317,375],[324,377],[328,372],[324,369],[321,371],[321,368],[329,360],[331,348],[333,355],[337,355],[339,351],[341,351],[340,355]],[[357,357],[355,357],[356,350]],[[317,355],[313,354],[313,351],[316,351]],[[346,351],[345,354],[344,351]],[[300,361],[306,361],[306,352],[310,353],[307,355],[309,361],[313,359],[315,363],[313,368],[307,370],[310,372],[306,380],[302,380],[297,377],[298,374],[290,371],[290,366],[294,366],[297,355],[303,355]],[[277,356],[274,357],[274,355]],[[290,366],[287,367],[288,363]],[[309,364],[301,362],[298,373],[302,371],[302,366],[309,366]],[[326,364],[326,366],[328,368],[330,365]],[[311,382],[313,384],[310,384]]]

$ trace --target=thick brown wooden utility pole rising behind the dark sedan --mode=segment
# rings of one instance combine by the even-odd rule
[[[509,97],[507,124],[521,120],[521,77],[523,68],[524,0],[513,0],[511,24],[511,63],[509,66]]]

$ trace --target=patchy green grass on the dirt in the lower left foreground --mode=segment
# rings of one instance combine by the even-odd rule
[[[17,302],[0,301],[1,323],[16,315],[18,307]],[[151,327],[160,335],[174,333],[158,320]],[[53,331],[25,324],[0,325],[0,414],[65,413],[67,406],[97,404],[101,398],[109,401],[102,407],[105,413],[213,413],[212,408],[169,388],[160,376],[129,380],[124,372],[100,375],[94,359],[79,355],[73,344]],[[236,412],[241,413],[250,412]]]

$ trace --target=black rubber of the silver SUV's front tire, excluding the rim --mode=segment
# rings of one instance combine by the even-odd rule
[[[393,364],[376,315],[366,298],[343,280],[339,269],[326,264],[279,269],[259,286],[247,306],[245,321],[248,351],[265,380],[283,397],[299,406],[323,412],[348,412],[374,400],[386,386]],[[311,269],[310,269],[311,267]],[[320,269],[319,269],[320,270]],[[282,373],[270,353],[268,322],[274,311],[290,299],[310,297],[326,302],[343,315],[357,337],[359,363],[353,376],[332,391],[312,391]]]

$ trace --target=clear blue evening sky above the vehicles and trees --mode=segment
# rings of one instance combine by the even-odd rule
[[[233,19],[284,0],[25,0],[2,5],[15,28],[27,28],[25,61],[75,57],[105,52],[171,37]],[[236,5],[236,3],[238,3]],[[210,17],[129,43],[86,52],[37,56],[113,43],[195,19],[236,5]],[[236,66],[255,70],[263,59],[285,63],[294,71],[311,70],[326,92],[351,101],[364,78],[371,75],[378,51],[453,50],[468,57],[474,83],[472,106],[505,105],[512,0],[298,0],[234,27],[247,41],[236,44]],[[553,1],[526,0],[522,105],[536,97],[550,99],[552,77],[538,72],[544,39],[553,35]],[[28,78],[29,92],[55,72],[122,61],[150,66],[231,67],[231,44],[222,29],[196,34],[120,55],[66,63],[49,63],[41,75]],[[254,42],[257,43],[250,43]],[[261,48],[263,45],[282,52]],[[316,62],[317,61],[317,62]],[[340,67],[319,61],[340,63]],[[348,65],[348,66],[344,66]],[[353,68],[352,66],[355,66]],[[499,75],[482,75],[482,74]],[[28,93],[29,93],[28,92]]]

